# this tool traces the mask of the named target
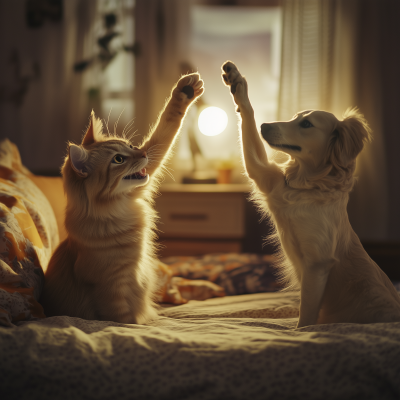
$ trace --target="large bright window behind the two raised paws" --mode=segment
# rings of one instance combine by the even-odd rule
[[[205,81],[204,101],[228,114],[228,125],[218,136],[196,129],[196,139],[207,158],[231,158],[239,153],[237,116],[221,80],[221,65],[231,60],[246,76],[257,124],[276,120],[281,48],[280,7],[191,7],[190,59]],[[193,123],[188,118],[186,123]],[[178,156],[191,157],[183,132]]]

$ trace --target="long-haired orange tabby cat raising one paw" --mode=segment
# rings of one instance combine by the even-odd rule
[[[122,323],[156,317],[153,193],[185,113],[203,90],[199,74],[183,76],[139,148],[103,135],[93,113],[82,144],[70,144],[62,168],[68,237],[45,273],[47,316]]]

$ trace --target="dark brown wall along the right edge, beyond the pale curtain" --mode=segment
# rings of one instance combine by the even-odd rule
[[[400,149],[399,109],[400,109],[400,2],[397,0],[363,0],[359,15],[358,44],[356,49],[358,68],[357,100],[367,119],[379,119],[383,133],[383,159],[386,174],[385,194],[372,193],[368,201],[372,205],[382,196],[386,203],[385,235],[386,242],[400,242]],[[375,93],[375,96],[373,95]],[[375,136],[380,132],[375,132]],[[370,147],[376,146],[372,141]],[[378,160],[369,161],[372,175]],[[361,178],[360,178],[361,179]],[[368,184],[368,174],[362,179]],[[350,207],[357,208],[355,199]],[[371,208],[370,208],[371,209]],[[372,211],[373,213],[374,211]],[[365,215],[367,227],[374,215]],[[361,228],[361,226],[360,226]],[[361,237],[362,229],[357,232]],[[400,249],[399,249],[400,250]]]

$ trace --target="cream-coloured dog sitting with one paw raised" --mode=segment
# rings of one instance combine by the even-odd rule
[[[400,321],[400,296],[363,249],[346,211],[356,157],[370,140],[364,117],[350,110],[339,121],[308,110],[287,122],[262,124],[263,139],[290,156],[278,165],[268,160],[245,78],[232,62],[222,69],[241,114],[254,198],[275,224],[287,260],[283,278],[301,290],[297,327]]]

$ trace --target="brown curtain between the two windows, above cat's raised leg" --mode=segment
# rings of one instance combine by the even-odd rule
[[[135,129],[138,140],[156,122],[172,85],[187,61],[190,34],[189,0],[137,0],[135,37]],[[186,72],[186,71],[185,71]],[[190,72],[190,71],[187,71]]]

